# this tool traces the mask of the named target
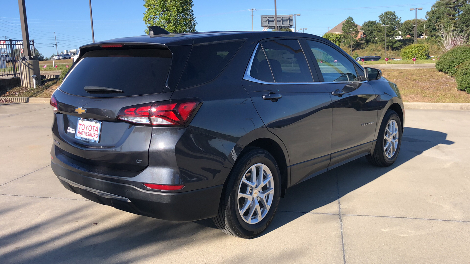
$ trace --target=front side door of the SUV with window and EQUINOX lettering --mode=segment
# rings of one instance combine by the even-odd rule
[[[331,164],[361,155],[375,140],[377,120],[376,93],[352,60],[336,48],[316,40],[306,40],[321,85],[330,94],[333,107]]]

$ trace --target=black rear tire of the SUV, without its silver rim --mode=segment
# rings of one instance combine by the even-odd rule
[[[266,165],[271,171],[274,180],[274,197],[266,216],[256,224],[249,224],[242,219],[238,212],[238,187],[245,172],[257,163]],[[244,239],[250,239],[261,233],[273,220],[281,198],[280,175],[279,167],[274,157],[269,152],[262,148],[252,148],[248,150],[237,160],[232,171],[230,171],[226,186],[222,191],[219,213],[216,217],[212,218],[214,224],[225,233]]]

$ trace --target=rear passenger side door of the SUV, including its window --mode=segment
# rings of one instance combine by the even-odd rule
[[[267,129],[285,144],[291,185],[324,170],[331,152],[332,109],[326,87],[315,86],[298,39],[258,44],[243,86]]]

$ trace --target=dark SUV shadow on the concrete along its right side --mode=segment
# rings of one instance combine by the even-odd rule
[[[391,166],[376,167],[368,163],[366,157],[362,157],[290,187],[286,191],[285,198],[281,199],[278,211],[300,214],[290,214],[290,218],[282,217],[284,222],[274,218],[265,233],[271,232],[305,213],[337,201],[345,194],[368,184],[430,148],[439,144],[454,144],[453,141],[446,140],[446,137],[447,134],[443,132],[405,127],[399,156]],[[321,212],[338,214],[338,205],[334,203],[329,208],[322,208]]]

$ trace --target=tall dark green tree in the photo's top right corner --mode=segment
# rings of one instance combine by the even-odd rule
[[[436,25],[444,27],[454,25],[457,15],[462,14],[462,8],[468,5],[468,0],[438,0],[426,12],[426,35],[436,37],[439,35]]]

